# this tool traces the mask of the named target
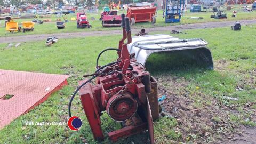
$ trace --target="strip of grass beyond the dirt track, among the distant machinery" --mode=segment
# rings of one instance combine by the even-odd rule
[[[119,13],[126,13],[124,10],[119,11]],[[156,23],[154,25],[151,24],[151,22],[142,22],[142,23],[136,23],[133,28],[147,28],[147,27],[162,27],[162,26],[170,26],[170,25],[180,25],[180,24],[187,24],[187,23],[202,23],[202,22],[210,22],[210,21],[234,21],[234,20],[243,20],[243,19],[256,19],[256,12],[250,12],[246,13],[243,11],[237,12],[237,17],[233,18],[232,10],[227,11],[227,17],[228,19],[214,19],[210,18],[210,15],[212,12],[200,12],[200,13],[190,13],[185,12],[184,17],[181,18],[180,23],[168,23],[166,24],[164,22],[163,18],[163,11],[158,10],[157,11],[157,19]],[[55,20],[57,19],[56,15],[52,15],[52,22],[44,22],[42,25],[39,25],[36,23],[35,25],[35,31],[34,32],[26,32],[26,33],[10,33],[5,31],[4,27],[4,20],[1,20],[0,24],[0,37],[5,36],[17,36],[17,35],[32,35],[32,34],[52,34],[52,33],[66,33],[66,32],[76,32],[76,31],[99,31],[99,30],[114,30],[114,29],[120,29],[119,27],[111,27],[111,28],[103,28],[101,25],[101,21],[99,21],[100,18],[100,12],[98,14],[88,14],[88,18],[90,21],[90,24],[92,25],[91,29],[77,29],[76,28],[76,21],[71,21],[71,17],[76,18],[76,14],[68,14],[67,15],[69,22],[65,23],[65,29],[57,29]],[[91,17],[94,17],[95,20],[90,20]],[[189,17],[203,17],[204,19],[198,20],[198,19],[188,19]],[[61,18],[63,20],[63,18]],[[21,21],[31,21],[33,19],[17,19],[19,25],[21,25]]]

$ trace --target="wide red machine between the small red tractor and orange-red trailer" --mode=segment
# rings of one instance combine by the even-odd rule
[[[102,26],[103,27],[120,27],[121,26],[121,15],[117,15],[116,10],[111,10],[109,12],[103,11],[101,13]]]

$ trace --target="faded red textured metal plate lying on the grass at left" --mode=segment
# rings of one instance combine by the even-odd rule
[[[0,70],[0,129],[67,85],[67,75]],[[12,98],[2,99],[4,95]]]

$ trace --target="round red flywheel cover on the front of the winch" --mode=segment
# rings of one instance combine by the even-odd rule
[[[107,113],[116,122],[123,122],[131,118],[137,111],[138,103],[132,94],[126,92],[122,95],[114,95],[108,100]]]

